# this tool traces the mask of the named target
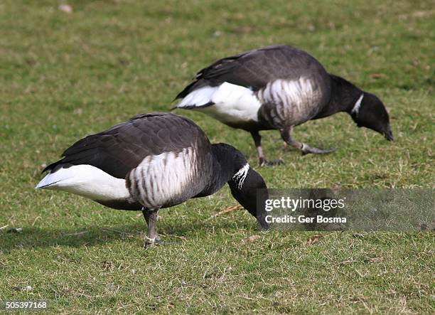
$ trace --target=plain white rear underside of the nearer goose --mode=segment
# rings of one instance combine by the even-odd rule
[[[121,200],[130,196],[124,179],[85,164],[48,173],[35,188],[68,191],[95,201]]]

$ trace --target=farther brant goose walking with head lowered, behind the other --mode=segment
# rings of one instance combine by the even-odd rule
[[[286,144],[302,154],[326,154],[291,138],[291,129],[310,119],[348,112],[358,127],[392,140],[390,119],[382,102],[336,75],[304,50],[268,46],[223,58],[200,70],[176,99],[175,108],[200,110],[230,127],[252,134],[259,164],[267,163],[260,130],[279,129]]]

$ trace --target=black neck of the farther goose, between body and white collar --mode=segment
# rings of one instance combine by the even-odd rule
[[[337,112],[348,112],[350,114],[358,98],[363,94],[362,90],[348,80],[340,78],[337,75],[330,75],[330,77],[331,100],[328,105],[317,114],[315,119],[328,117]]]

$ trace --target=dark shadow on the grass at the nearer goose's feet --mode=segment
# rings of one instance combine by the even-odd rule
[[[190,221],[178,225],[162,224],[157,226],[157,231],[163,236],[163,244],[181,244],[193,233],[203,231],[208,233],[213,227],[232,228],[230,223],[219,225],[213,222]],[[130,225],[115,226],[82,226],[74,229],[56,228],[35,228],[23,227],[19,233],[0,232],[0,250],[9,253],[11,250],[43,248],[55,246],[94,246],[108,242],[122,240],[124,242],[135,242],[138,247],[143,245],[143,237],[146,233],[146,223],[134,223]]]

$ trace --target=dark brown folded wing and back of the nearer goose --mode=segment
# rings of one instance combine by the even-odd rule
[[[189,119],[176,114],[139,114],[127,122],[92,134],[66,149],[63,159],[43,171],[69,165],[88,164],[117,178],[138,166],[146,156],[210,146],[203,131]]]

